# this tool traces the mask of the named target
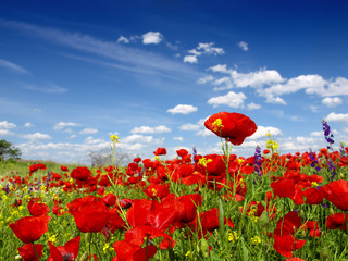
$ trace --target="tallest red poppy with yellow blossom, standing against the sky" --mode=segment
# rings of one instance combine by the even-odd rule
[[[236,112],[219,112],[204,122],[206,128],[233,145],[241,145],[244,140],[258,129],[256,123],[248,116]]]

